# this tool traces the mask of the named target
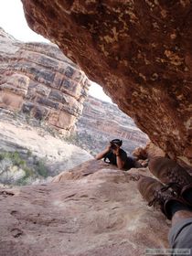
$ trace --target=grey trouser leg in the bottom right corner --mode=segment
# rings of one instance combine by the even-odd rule
[[[172,249],[189,249],[190,253],[187,251],[183,254],[173,253],[172,255],[190,255],[192,256],[192,218],[184,219],[173,226],[168,235],[168,240]]]

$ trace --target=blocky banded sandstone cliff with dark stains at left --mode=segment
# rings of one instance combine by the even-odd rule
[[[25,112],[69,135],[89,80],[54,45],[22,43],[0,29],[0,108]]]

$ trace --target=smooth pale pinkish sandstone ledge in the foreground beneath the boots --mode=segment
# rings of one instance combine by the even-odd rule
[[[4,256],[141,256],[168,248],[163,214],[146,206],[131,173],[102,161],[47,185],[1,188],[0,208]]]

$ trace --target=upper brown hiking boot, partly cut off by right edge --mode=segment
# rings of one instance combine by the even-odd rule
[[[151,159],[148,166],[154,176],[176,192],[177,197],[192,206],[192,176],[182,166],[165,157]]]

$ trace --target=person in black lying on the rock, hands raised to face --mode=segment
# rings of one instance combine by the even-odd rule
[[[121,148],[122,144],[123,141],[119,139],[112,140],[95,158],[97,160],[104,158],[104,162],[116,165],[121,170],[129,170],[136,167],[133,158],[127,156],[126,152]]]

